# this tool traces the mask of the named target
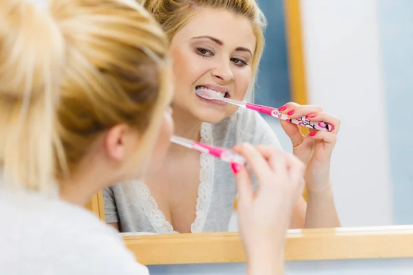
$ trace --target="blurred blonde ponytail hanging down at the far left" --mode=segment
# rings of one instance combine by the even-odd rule
[[[0,1],[1,181],[32,190],[50,186],[53,123],[64,47],[59,28],[34,4]]]

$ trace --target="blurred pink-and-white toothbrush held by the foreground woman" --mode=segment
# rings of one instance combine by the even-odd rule
[[[178,137],[176,135],[173,135],[171,137],[171,142],[182,145],[187,148],[195,149],[197,151],[200,151],[201,153],[213,155],[214,157],[218,157],[224,162],[236,163],[241,165],[246,164],[246,160],[244,159],[244,157],[226,148],[220,148],[217,146],[203,144],[201,142],[195,142],[194,140],[188,140],[187,138]]]

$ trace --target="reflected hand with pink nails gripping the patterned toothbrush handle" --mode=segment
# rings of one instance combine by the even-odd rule
[[[303,135],[296,124],[282,121],[282,128],[290,137],[293,144],[293,153],[306,164],[304,179],[309,191],[324,192],[330,186],[330,159],[332,149],[337,141],[340,120],[330,113],[326,113],[314,105],[299,105],[290,102],[279,111],[286,113],[289,118],[297,119],[306,116],[310,122],[326,122],[333,126],[332,131],[317,131],[310,129],[310,133]]]

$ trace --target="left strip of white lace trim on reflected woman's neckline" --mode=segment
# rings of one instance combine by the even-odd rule
[[[165,215],[158,208],[155,198],[151,195],[151,190],[143,181],[134,181],[131,183],[141,201],[143,211],[145,212],[149,222],[158,234],[174,234],[178,233],[173,230],[173,227]],[[136,190],[138,188],[138,190]]]

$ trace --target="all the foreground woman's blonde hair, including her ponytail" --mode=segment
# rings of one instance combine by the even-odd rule
[[[140,134],[137,156],[149,152],[169,102],[168,47],[160,25],[133,1],[54,0],[41,12],[22,0],[1,0],[6,179],[45,190],[73,173],[116,124]]]

